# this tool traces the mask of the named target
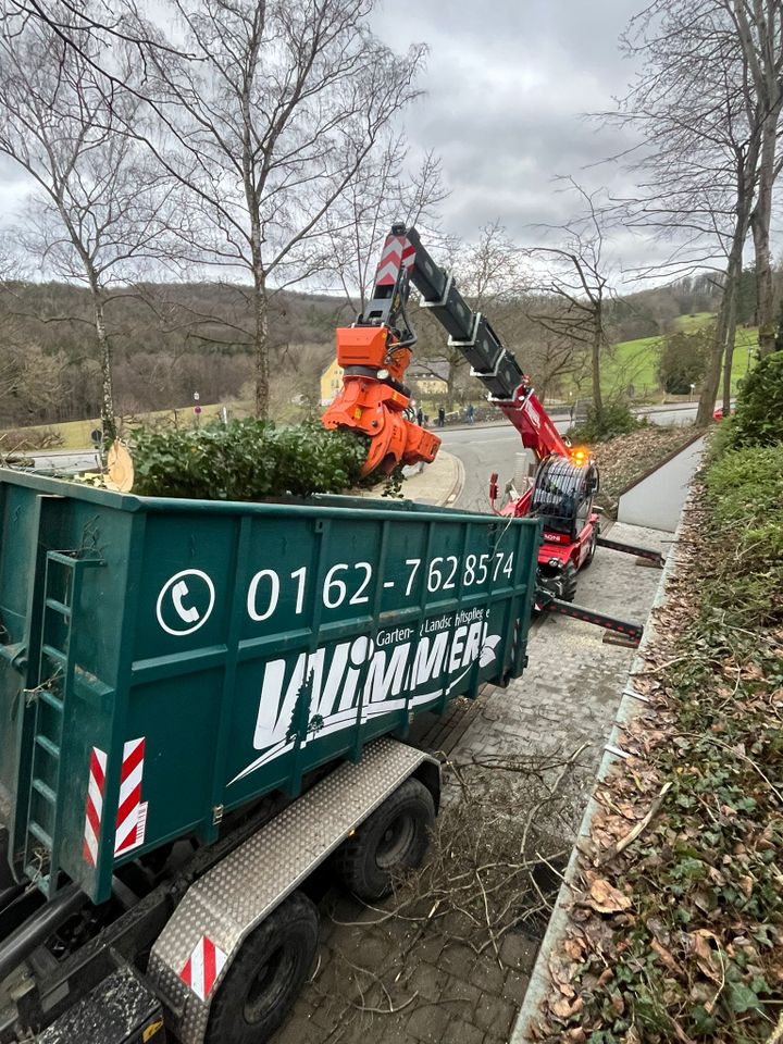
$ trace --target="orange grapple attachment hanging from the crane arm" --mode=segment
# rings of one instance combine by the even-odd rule
[[[401,382],[410,362],[408,348],[388,351],[384,326],[349,326],[337,331],[337,362],[340,366],[387,370]],[[375,469],[387,474],[399,463],[433,461],[440,439],[402,415],[408,396],[369,374],[347,373],[343,390],[322,418],[324,427],[361,432],[371,439],[362,474]]]

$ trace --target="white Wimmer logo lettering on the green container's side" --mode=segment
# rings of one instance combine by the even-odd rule
[[[488,635],[487,626],[487,610],[476,608],[426,620],[418,634],[402,626],[378,632],[374,643],[360,635],[300,652],[293,662],[270,660],[253,734],[262,753],[231,782],[293,749],[301,698],[309,697],[303,745],[356,724],[360,707],[365,722],[403,708],[409,693],[415,707],[451,692],[476,660],[484,667],[495,659],[500,636]],[[433,682],[436,687],[427,687]]]

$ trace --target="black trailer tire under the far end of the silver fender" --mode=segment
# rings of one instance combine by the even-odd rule
[[[382,899],[395,873],[421,865],[435,803],[419,780],[406,780],[335,853],[334,867],[360,899]]]

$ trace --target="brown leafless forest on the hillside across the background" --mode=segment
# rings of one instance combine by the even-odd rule
[[[713,279],[700,276],[620,297],[610,306],[612,340],[660,336],[679,316],[714,310],[719,294]],[[741,322],[751,324],[749,281],[745,298]],[[319,378],[334,358],[335,327],[355,316],[337,296],[283,290],[271,301],[270,412],[286,420],[318,409]],[[250,307],[246,288],[237,284],[148,284],[109,291],[105,318],[117,412],[190,407],[196,391],[208,402],[252,398],[253,347],[244,334]],[[531,307],[532,298],[521,294],[495,300],[487,310],[543,395],[558,398],[563,382],[579,384],[585,353],[568,338],[543,331],[530,319]],[[440,327],[420,309],[412,316],[420,333],[415,359],[448,374],[447,405],[471,393],[475,397],[475,382],[462,357],[449,351]],[[94,341],[86,289],[65,283],[2,284],[0,426],[98,417],[101,374]]]

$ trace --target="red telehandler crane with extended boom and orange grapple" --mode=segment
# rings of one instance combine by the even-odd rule
[[[406,417],[410,390],[403,378],[417,340],[406,312],[411,286],[449,334],[449,346],[468,359],[471,375],[487,389],[488,401],[506,414],[538,462],[527,488],[501,513],[543,519],[539,604],[582,619],[596,617],[595,622],[613,630],[634,626],[576,607],[572,612],[563,604],[573,600],[576,573],[589,564],[599,543],[656,563],[660,563],[659,554],[600,538],[599,518],[593,510],[599,482],[595,460],[563,439],[513,353],[502,346],[487,318],[471,309],[453,277],[422,246],[415,228],[391,226],[375,272],[372,300],[352,326],[337,330],[344,386],[324,413],[324,425],[368,436],[365,474],[435,459],[440,439]],[[494,507],[497,475],[493,475],[490,497]]]

